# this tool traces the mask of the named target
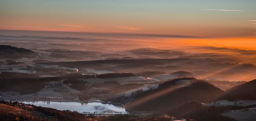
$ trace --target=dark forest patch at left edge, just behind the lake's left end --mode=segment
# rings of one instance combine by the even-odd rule
[[[91,78],[92,75],[70,74],[59,77],[40,78],[36,74],[23,74],[15,72],[2,72],[0,74],[0,92],[18,92],[20,94],[32,94],[44,88],[45,83],[67,79],[65,84],[72,83],[72,88],[83,90],[89,88],[87,82],[79,81],[83,78]],[[93,76],[94,77],[94,76]]]

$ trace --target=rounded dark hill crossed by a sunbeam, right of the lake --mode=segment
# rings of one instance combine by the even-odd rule
[[[126,104],[134,110],[165,110],[187,101],[211,101],[224,91],[195,78],[180,78],[160,84],[157,89],[141,92]]]

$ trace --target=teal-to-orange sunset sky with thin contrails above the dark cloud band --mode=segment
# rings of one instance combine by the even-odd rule
[[[0,29],[246,38],[252,42],[255,6],[256,0],[0,0]]]

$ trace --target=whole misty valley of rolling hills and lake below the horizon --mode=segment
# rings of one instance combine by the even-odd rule
[[[28,39],[26,41],[56,39],[2,37],[2,40],[23,38]],[[67,38],[70,39],[83,40]],[[106,43],[105,40],[96,42],[100,41]],[[17,45],[13,42],[12,45]],[[27,48],[25,43],[19,46]],[[71,46],[77,48],[78,45],[69,43],[68,48]],[[109,45],[102,46],[105,49]],[[105,121],[109,116],[114,116],[113,119],[128,116],[134,120],[160,118],[159,121],[254,118],[255,51],[195,46],[183,51],[137,48],[105,52],[58,47],[0,46],[2,104],[20,110],[32,106],[29,112],[33,115],[32,109],[38,108],[42,108],[37,112],[43,115],[51,115],[52,109],[58,109],[60,114],[68,110],[68,113],[84,115],[81,118],[98,121]],[[250,56],[244,56],[249,52]],[[209,115],[200,116],[204,113]],[[249,118],[242,118],[244,116]]]

